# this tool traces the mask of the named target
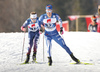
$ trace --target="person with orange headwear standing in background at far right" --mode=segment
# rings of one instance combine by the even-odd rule
[[[97,32],[97,18],[96,16],[92,16],[92,22],[89,24],[88,30],[90,30],[90,32]]]

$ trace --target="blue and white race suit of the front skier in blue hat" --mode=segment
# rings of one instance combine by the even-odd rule
[[[39,21],[41,24],[44,24],[45,27],[45,39],[46,39],[46,45],[48,48],[48,55],[51,57],[51,47],[52,43],[51,40],[53,39],[56,41],[61,47],[63,47],[68,54],[72,54],[70,49],[66,46],[63,38],[59,35],[59,33],[56,30],[56,22],[59,21],[60,27],[62,27],[62,20],[59,17],[58,14],[52,13],[51,18],[47,16],[47,14],[43,14],[39,17]]]

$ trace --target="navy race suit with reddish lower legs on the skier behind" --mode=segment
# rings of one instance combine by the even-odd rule
[[[29,47],[28,47],[27,54],[30,55],[31,48],[32,48],[33,45],[34,45],[33,51],[37,52],[37,43],[38,43],[38,39],[39,39],[39,36],[40,36],[40,34],[39,34],[40,24],[39,24],[38,18],[36,19],[35,23],[33,23],[31,21],[31,19],[28,18],[24,22],[22,27],[25,28],[27,26],[28,26],[28,38],[29,38]]]

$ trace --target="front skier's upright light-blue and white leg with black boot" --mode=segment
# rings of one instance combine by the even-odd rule
[[[48,48],[48,65],[51,66],[52,65],[52,57],[51,57],[51,47],[52,47],[52,44],[51,44],[51,37],[48,37],[48,36],[45,36],[45,40],[46,40],[46,46]]]

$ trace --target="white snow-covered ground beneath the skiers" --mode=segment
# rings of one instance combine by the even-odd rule
[[[100,72],[100,34],[93,32],[66,32],[63,38],[74,55],[82,62],[94,65],[71,65],[70,56],[58,44],[52,41],[53,65],[48,66],[47,48],[44,45],[43,35],[38,45],[38,64],[19,65],[21,63],[23,33],[0,33],[0,72]],[[28,46],[27,33],[23,61],[26,58]],[[31,53],[32,55],[32,53]],[[32,60],[32,59],[31,59]]]

